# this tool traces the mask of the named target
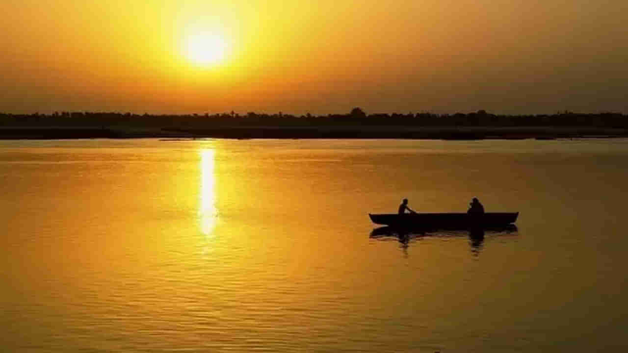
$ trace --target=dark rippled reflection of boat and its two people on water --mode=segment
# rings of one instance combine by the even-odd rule
[[[410,242],[424,237],[468,237],[471,252],[474,256],[479,256],[482,249],[484,249],[484,240],[487,234],[489,237],[517,236],[518,231],[519,229],[517,229],[517,226],[514,224],[502,227],[485,227],[464,231],[445,231],[441,229],[400,229],[386,226],[373,229],[370,238],[381,241],[396,238],[401,244],[401,247],[404,249],[404,252],[406,252]]]

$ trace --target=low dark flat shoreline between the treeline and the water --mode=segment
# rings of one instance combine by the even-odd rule
[[[628,129],[592,127],[222,126],[217,128],[0,128],[0,139],[570,139],[628,138]]]

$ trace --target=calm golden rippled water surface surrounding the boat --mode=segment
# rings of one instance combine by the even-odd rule
[[[628,141],[0,142],[0,348],[624,348]],[[371,236],[369,212],[519,211]]]

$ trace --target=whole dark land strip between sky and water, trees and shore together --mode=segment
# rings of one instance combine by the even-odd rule
[[[0,139],[560,139],[628,138],[621,113],[551,115],[290,114],[149,115],[116,112],[0,114]]]

